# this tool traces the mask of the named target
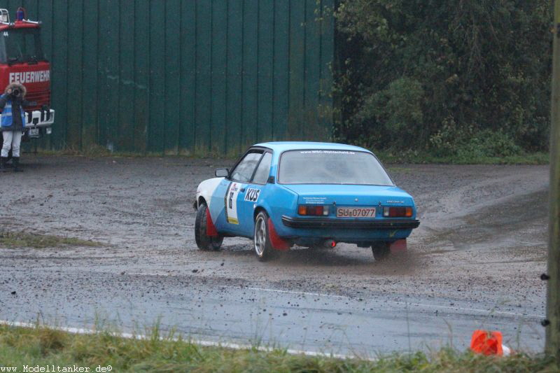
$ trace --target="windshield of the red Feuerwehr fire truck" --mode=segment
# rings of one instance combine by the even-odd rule
[[[8,29],[0,31],[0,62],[35,63],[44,61],[38,29]]]

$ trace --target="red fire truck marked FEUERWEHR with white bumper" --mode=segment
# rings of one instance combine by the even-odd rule
[[[55,120],[50,108],[50,63],[41,44],[41,22],[25,19],[23,8],[18,8],[13,22],[8,10],[0,9],[0,94],[13,82],[25,85],[25,99],[36,103],[25,107],[25,137],[50,134]]]

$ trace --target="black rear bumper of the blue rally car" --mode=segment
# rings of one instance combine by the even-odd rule
[[[282,223],[290,228],[350,228],[360,230],[412,230],[420,225],[419,220],[342,220],[333,218],[291,218],[286,215],[282,216]]]

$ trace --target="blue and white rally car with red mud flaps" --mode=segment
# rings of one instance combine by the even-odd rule
[[[195,239],[218,250],[223,237],[253,239],[259,260],[298,246],[371,247],[374,258],[406,248],[418,227],[414,199],[369,150],[337,143],[251,146],[230,169],[202,181]]]

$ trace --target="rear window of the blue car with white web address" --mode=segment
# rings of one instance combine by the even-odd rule
[[[394,185],[371,153],[349,150],[289,150],[281,155],[281,184]]]

